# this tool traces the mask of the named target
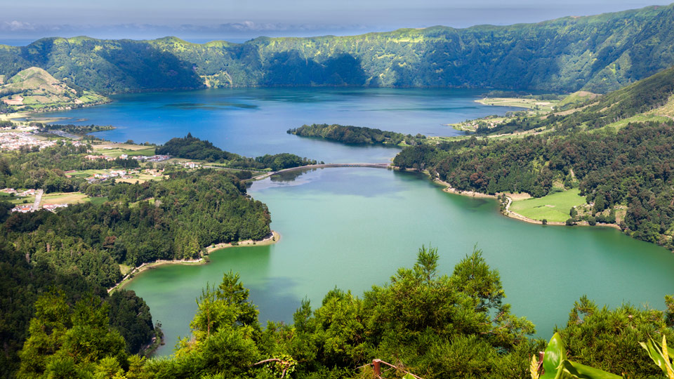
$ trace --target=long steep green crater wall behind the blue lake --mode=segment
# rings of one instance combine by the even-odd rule
[[[430,27],[244,44],[45,38],[0,46],[27,67],[98,93],[243,86],[541,88],[605,93],[674,65],[674,6],[536,24]]]

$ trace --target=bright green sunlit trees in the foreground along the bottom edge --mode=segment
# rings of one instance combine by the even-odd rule
[[[191,335],[164,359],[124,350],[106,302],[69,301],[51,291],[35,303],[18,377],[364,379],[376,377],[369,363],[382,359],[398,367],[384,378],[406,371],[427,379],[529,378],[531,357],[545,341],[529,338],[534,325],[503,302],[498,272],[480,251],[450,276],[437,271],[438,258],[436,249],[421,248],[414,267],[362,297],[336,288],[317,307],[303,301],[293,324],[265,327],[239,276],[226,273],[218,286],[204,288]],[[658,377],[661,369],[638,342],[672,340],[674,301],[666,302],[661,312],[608,310],[579,299],[568,324],[557,328],[567,359],[629,378]]]

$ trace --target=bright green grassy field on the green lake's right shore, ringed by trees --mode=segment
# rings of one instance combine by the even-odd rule
[[[510,211],[534,220],[564,222],[571,217],[571,207],[585,204],[585,197],[579,196],[579,192],[579,189],[574,188],[537,199],[513,201]]]

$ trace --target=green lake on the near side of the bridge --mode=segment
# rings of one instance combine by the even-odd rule
[[[206,283],[239,272],[258,305],[260,320],[292,321],[303,298],[320,305],[332,288],[358,295],[385,284],[398,267],[411,267],[422,244],[437,246],[440,272],[477,245],[501,273],[513,312],[534,321],[550,338],[574,301],[588,295],[600,305],[622,302],[662,309],[674,287],[674,257],[666,249],[607,227],[531,225],[505,218],[496,201],[461,197],[414,173],[378,168],[324,168],[253,183],[265,202],[271,246],[227,248],[207,265],[164,265],[139,274],[136,291],[161,321],[171,354],[189,334],[195,299]]]

